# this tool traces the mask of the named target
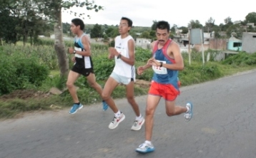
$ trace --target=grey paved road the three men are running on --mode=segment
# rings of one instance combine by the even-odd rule
[[[0,122],[1,158],[66,157],[256,157],[256,70],[187,86],[177,103],[194,103],[194,117],[167,117],[163,100],[155,115],[153,144],[156,150],[139,154],[144,128],[131,131],[134,113],[126,100],[117,105],[126,119],[109,130],[111,110],[102,105],[84,107],[75,115],[67,110],[36,112]],[[144,113],[146,96],[136,98]]]

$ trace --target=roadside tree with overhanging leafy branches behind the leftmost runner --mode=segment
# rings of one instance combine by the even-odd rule
[[[56,51],[59,69],[61,77],[67,76],[69,71],[69,60],[67,58],[67,49],[64,46],[63,33],[62,33],[62,22],[61,22],[61,11],[62,9],[70,9],[72,6],[86,7],[86,9],[99,11],[102,10],[102,6],[97,6],[94,1],[84,0],[54,0],[54,1],[36,1],[39,7],[39,13],[44,14],[49,20],[54,23],[54,49]],[[70,11],[74,16],[83,16],[83,14],[78,14],[77,12]],[[89,17],[89,15],[87,15]]]

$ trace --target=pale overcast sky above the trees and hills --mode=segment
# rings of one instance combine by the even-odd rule
[[[125,16],[132,19],[133,26],[151,27],[153,21],[163,20],[168,21],[171,27],[174,24],[187,27],[191,20],[198,20],[204,26],[210,17],[215,20],[216,25],[224,23],[227,17],[230,17],[232,22],[244,21],[247,14],[256,12],[255,5],[249,0],[94,0],[94,4],[103,6],[104,10],[95,12],[73,7],[71,11],[86,15],[79,17],[63,11],[62,22],[71,23],[74,18],[84,18],[84,23],[115,26],[119,24],[122,16]],[[90,19],[87,14],[91,16]]]

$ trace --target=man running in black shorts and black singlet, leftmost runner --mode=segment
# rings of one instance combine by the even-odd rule
[[[94,88],[99,95],[102,96],[102,87],[96,82],[94,69],[91,57],[91,48],[88,36],[84,33],[84,22],[81,19],[73,19],[70,26],[70,30],[74,33],[74,48],[69,48],[68,51],[74,54],[72,60],[75,62],[72,70],[69,71],[67,78],[67,88],[73,98],[74,104],[69,111],[70,114],[74,114],[77,110],[81,109],[83,105],[79,102],[77,97],[77,90],[74,86],[74,82],[80,75],[84,75],[87,78],[89,85]],[[103,110],[107,110],[108,105],[102,101]]]

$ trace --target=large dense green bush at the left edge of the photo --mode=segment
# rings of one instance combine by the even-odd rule
[[[13,90],[39,87],[49,75],[49,68],[37,56],[0,49],[0,95]]]

